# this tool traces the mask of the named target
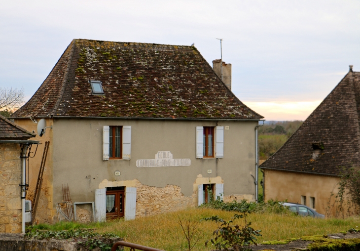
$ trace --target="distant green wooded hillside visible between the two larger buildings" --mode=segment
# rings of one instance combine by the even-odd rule
[[[267,159],[284,145],[303,121],[266,121],[259,127],[259,152]]]

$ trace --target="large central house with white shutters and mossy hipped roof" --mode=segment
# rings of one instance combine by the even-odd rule
[[[210,190],[225,200],[256,197],[263,117],[194,46],[73,40],[12,118],[28,130],[31,119],[52,126],[36,136],[50,142],[40,221],[55,220],[64,184],[73,202],[95,201],[98,220],[197,206]]]

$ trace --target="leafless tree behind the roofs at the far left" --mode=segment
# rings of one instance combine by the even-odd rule
[[[24,103],[24,88],[0,87],[0,111],[20,108]]]

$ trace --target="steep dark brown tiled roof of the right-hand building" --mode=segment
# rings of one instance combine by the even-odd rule
[[[360,72],[350,71],[324,101],[260,167],[339,175],[360,164]]]

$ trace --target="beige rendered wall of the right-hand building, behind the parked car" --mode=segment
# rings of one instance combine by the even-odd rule
[[[317,212],[327,215],[335,214],[335,207],[329,211],[328,206],[334,204],[334,196],[338,192],[338,177],[315,175],[297,172],[264,170],[265,201],[269,199],[288,200],[301,204],[301,196],[306,196],[306,206],[310,207],[310,197],[315,197]],[[331,201],[330,200],[331,197]]]

